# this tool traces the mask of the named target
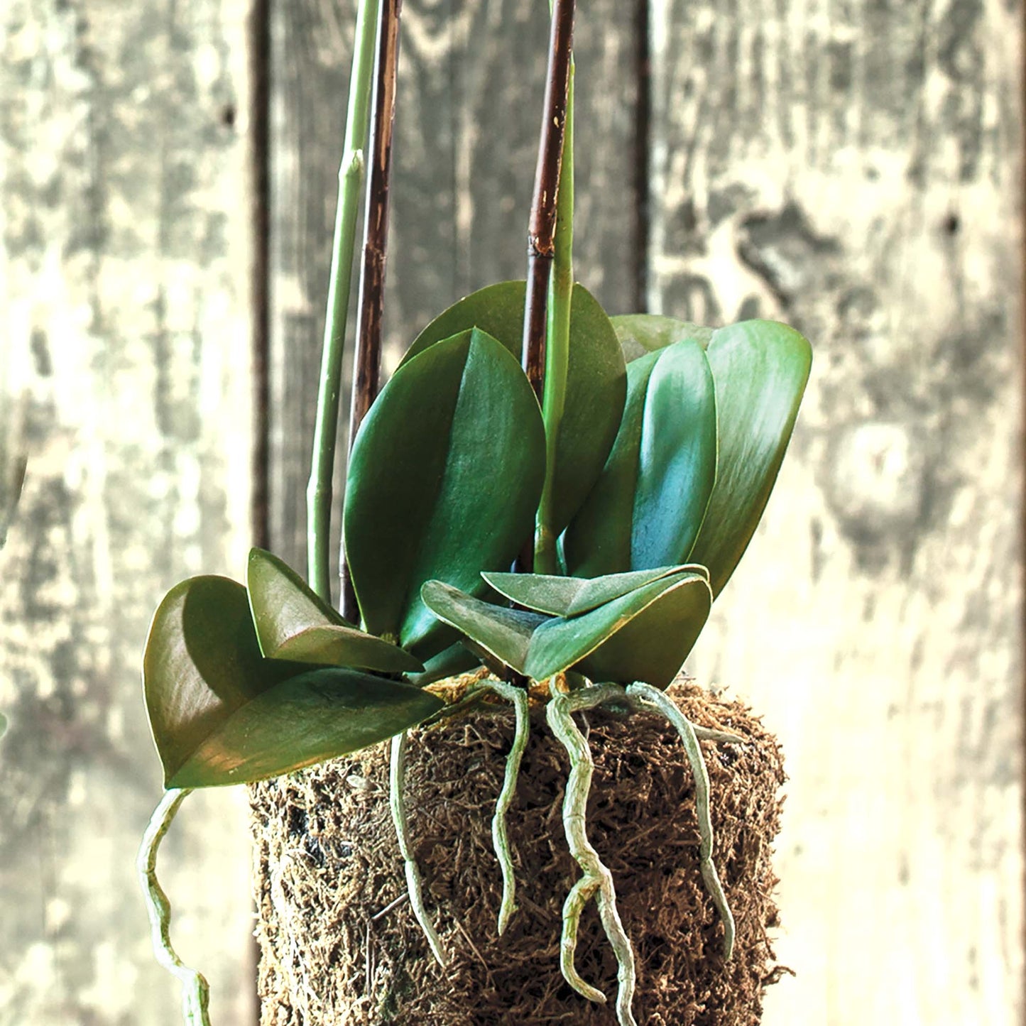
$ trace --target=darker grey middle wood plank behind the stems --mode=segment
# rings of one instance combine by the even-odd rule
[[[301,567],[354,10],[352,0],[304,0],[274,12],[271,535]],[[623,311],[638,260],[635,14],[611,2],[586,13],[577,36],[577,272]],[[403,4],[386,373],[450,303],[524,276],[547,24],[544,4]]]

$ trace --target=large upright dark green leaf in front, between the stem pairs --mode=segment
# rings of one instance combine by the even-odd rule
[[[545,429],[519,364],[474,328],[400,367],[356,437],[344,528],[364,627],[430,657],[446,643],[421,599],[439,579],[480,592],[531,537]]]

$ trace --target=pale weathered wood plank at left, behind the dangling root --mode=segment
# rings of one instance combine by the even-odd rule
[[[0,553],[5,1024],[180,1022],[132,869],[160,795],[139,668],[171,584],[243,565],[245,14],[0,8],[0,430],[19,408],[29,456]],[[193,798],[164,859],[224,1024],[252,1021],[240,797]]]

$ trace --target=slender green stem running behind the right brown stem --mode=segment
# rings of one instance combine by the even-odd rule
[[[566,87],[566,126],[563,134],[562,166],[556,194],[556,239],[545,341],[545,390],[542,419],[545,422],[545,486],[538,507],[535,528],[535,573],[555,574],[556,559],[555,494],[556,442],[566,400],[566,368],[569,362],[570,302],[574,293],[574,58],[570,57]]]

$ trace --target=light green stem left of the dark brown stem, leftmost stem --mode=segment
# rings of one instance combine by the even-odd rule
[[[346,319],[353,276],[353,253],[360,190],[366,160],[363,146],[367,137],[370,83],[373,73],[374,37],[380,0],[361,0],[356,15],[353,67],[349,79],[349,109],[346,135],[339,168],[339,205],[334,216],[331,274],[324,321],[324,349],[321,355],[317,421],[314,427],[313,466],[307,487],[307,548],[310,587],[326,602],[331,601],[330,528],[331,477],[339,434],[339,396],[342,391],[342,357],[346,341]]]

